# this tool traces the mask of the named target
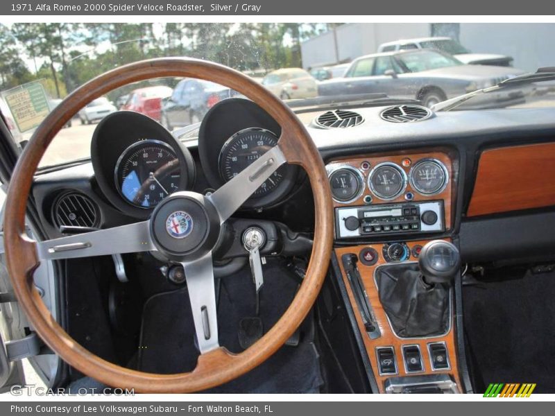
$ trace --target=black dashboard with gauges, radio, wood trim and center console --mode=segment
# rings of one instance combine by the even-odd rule
[[[555,110],[442,112],[410,123],[383,117],[395,106],[350,110],[298,115],[330,182],[332,276],[358,347],[381,392],[391,379],[413,373],[447,376],[461,388],[460,302],[453,304],[450,293],[445,333],[403,338],[379,299],[377,270],[416,264],[420,250],[436,239],[456,243],[465,263],[552,260],[555,235],[545,224],[555,221]],[[352,127],[319,122],[352,114]],[[264,110],[243,98],[221,101],[200,126],[186,130],[176,138],[142,114],[106,116],[92,137],[90,162],[35,177],[33,199],[49,238],[148,218],[174,191],[211,193],[275,146],[281,133]],[[228,222],[237,241],[245,235],[241,230],[262,227],[268,243],[263,256],[292,257],[300,246],[307,254],[314,200],[305,173],[282,166]],[[242,261],[238,268],[247,264],[243,243],[226,252]],[[232,272],[218,267],[216,275]]]

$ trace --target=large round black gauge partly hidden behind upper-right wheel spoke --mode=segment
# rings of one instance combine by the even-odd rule
[[[262,128],[246,128],[235,133],[223,144],[220,152],[219,169],[221,177],[226,182],[231,180],[276,144],[278,144],[278,137]],[[259,198],[275,189],[283,180],[284,167],[281,166],[272,173],[253,193],[252,198]]]

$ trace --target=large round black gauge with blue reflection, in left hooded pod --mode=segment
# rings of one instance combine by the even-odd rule
[[[116,164],[116,186],[123,198],[140,208],[155,207],[180,186],[181,171],[173,148],[157,140],[137,141]]]

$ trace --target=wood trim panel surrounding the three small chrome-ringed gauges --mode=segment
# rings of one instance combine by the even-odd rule
[[[404,167],[402,166],[402,160],[405,158],[409,158],[411,160],[411,165]],[[382,200],[381,198],[375,196],[370,189],[368,189],[368,174],[372,171],[372,168],[377,164],[382,162],[392,162],[394,164],[398,164],[400,168],[407,173],[407,177],[409,176],[409,171],[412,166],[414,166],[420,159],[437,159],[445,165],[447,168],[447,173],[449,174],[449,181],[447,182],[447,186],[441,193],[436,195],[420,195],[417,191],[412,189],[410,184],[407,184],[407,189],[402,193],[398,198],[394,200]],[[361,164],[363,162],[370,163],[370,168],[366,171],[361,169]],[[333,165],[348,165],[356,168],[359,172],[361,172],[364,176],[364,193],[361,195],[360,198],[357,200],[350,202],[348,204],[343,204],[341,202],[334,201],[334,207],[350,207],[350,206],[360,206],[364,204],[364,197],[367,195],[372,196],[373,202],[372,205],[376,204],[385,204],[385,203],[395,203],[395,202],[407,202],[404,199],[404,194],[407,192],[412,192],[414,194],[414,202],[418,201],[429,201],[429,200],[443,200],[444,209],[445,209],[445,229],[451,229],[452,227],[452,192],[454,190],[453,185],[453,177],[454,177],[454,168],[453,162],[447,153],[441,151],[432,151],[426,153],[406,153],[406,152],[398,152],[395,154],[384,154],[384,155],[368,155],[368,156],[360,156],[360,157],[347,157],[343,159],[335,159],[334,161],[327,164],[328,168]]]

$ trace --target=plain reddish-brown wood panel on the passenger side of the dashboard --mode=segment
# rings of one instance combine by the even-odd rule
[[[555,205],[555,143],[485,150],[467,216]]]

